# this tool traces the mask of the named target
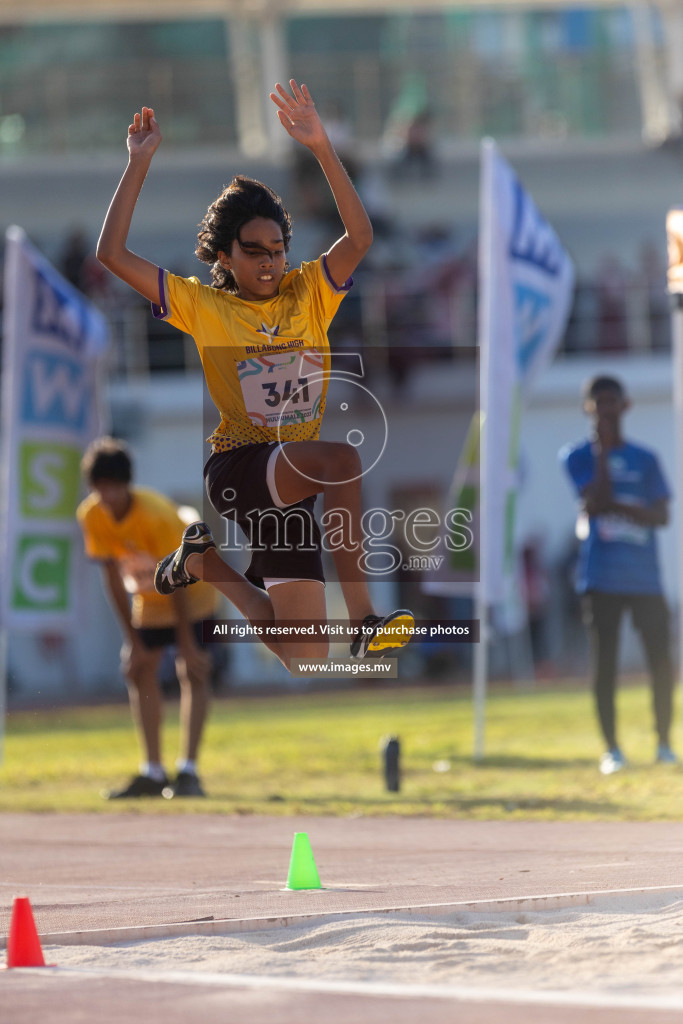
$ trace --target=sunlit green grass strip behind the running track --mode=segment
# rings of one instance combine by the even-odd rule
[[[683,771],[653,764],[648,688],[623,686],[617,708],[630,765],[604,777],[592,697],[568,684],[494,688],[479,764],[472,761],[467,687],[227,697],[213,703],[202,751],[207,800],[116,803],[100,792],[132,775],[139,760],[127,708],[14,713],[0,811],[678,820]],[[387,734],[401,743],[398,794],[384,786]],[[177,705],[170,702],[169,766],[177,742]]]

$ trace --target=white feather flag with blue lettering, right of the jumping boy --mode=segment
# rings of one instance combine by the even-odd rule
[[[515,573],[521,411],[562,339],[573,265],[492,139],[482,141],[478,331],[481,359],[480,580],[502,601]]]

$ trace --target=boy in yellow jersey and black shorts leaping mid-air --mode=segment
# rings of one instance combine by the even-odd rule
[[[252,542],[245,575],[219,557],[206,523],[189,526],[162,559],[155,585],[171,594],[211,582],[249,622],[326,620],[318,494],[335,518],[333,557],[355,628],[351,654],[364,657],[408,642],[414,618],[376,614],[362,566],[360,477],[356,450],[318,440],[330,374],[328,327],[368,252],[373,230],[305,85],[276,85],[270,98],[288,134],[317,159],[344,233],[319,259],[290,269],[291,220],[267,185],[239,175],[209,207],[198,257],[212,287],[179,278],[135,255],[127,237],[161,132],[142,108],[128,129],[129,162],[97,247],[100,261],[153,303],[155,315],[194,337],[220,423],[209,438],[206,487],[214,508]],[[257,538],[258,543],[253,542]],[[292,658],[327,656],[324,637],[266,645],[289,669]]]

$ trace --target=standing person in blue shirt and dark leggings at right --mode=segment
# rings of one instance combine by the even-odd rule
[[[593,435],[560,452],[582,503],[577,590],[591,637],[593,687],[607,745],[600,759],[605,775],[626,764],[616,740],[614,691],[620,627],[627,609],[640,633],[651,678],[656,760],[677,762],[669,745],[674,688],[670,616],[654,537],[655,528],[669,522],[671,493],[654,453],[624,438],[622,417],[629,407],[618,380],[593,378],[584,389]]]

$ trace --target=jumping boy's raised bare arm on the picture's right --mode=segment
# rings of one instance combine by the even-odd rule
[[[310,150],[323,168],[332,190],[345,233],[327,254],[328,270],[337,285],[343,285],[370,249],[373,226],[360,197],[344,170],[323,126],[308,88],[290,80],[291,94],[280,85],[270,99],[278,106],[280,123],[292,138]]]

